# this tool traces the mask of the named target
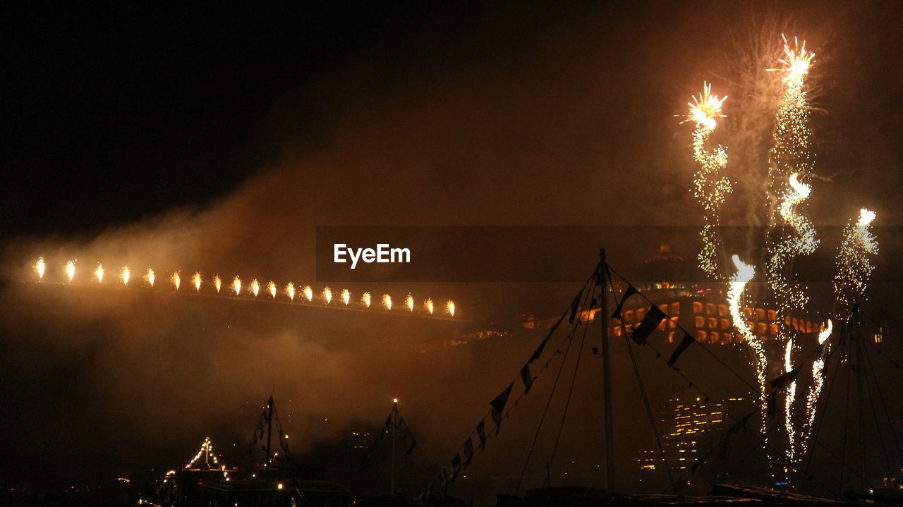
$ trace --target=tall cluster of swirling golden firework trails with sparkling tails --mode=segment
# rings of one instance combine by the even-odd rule
[[[776,361],[778,374],[793,375],[795,355],[801,351],[800,340],[797,339],[795,312],[806,311],[809,298],[805,288],[796,281],[794,265],[796,260],[815,252],[820,244],[816,237],[815,226],[801,211],[812,194],[814,155],[811,148],[811,131],[808,125],[810,106],[805,90],[805,78],[808,75],[815,53],[805,49],[805,41],[796,38],[788,41],[784,37],[782,64],[778,69],[767,69],[781,75],[781,96],[772,134],[773,147],[768,158],[768,234],[763,255],[764,269],[762,275],[768,285],[767,294],[755,294],[757,299],[770,300],[774,303],[774,317],[769,318],[772,330],[768,339],[777,340],[782,356]],[[703,84],[703,92],[689,104],[686,115],[688,122],[694,122],[693,156],[700,169],[694,175],[694,197],[703,207],[703,250],[699,254],[699,267],[710,278],[721,280],[718,264],[719,254],[724,249],[722,238],[717,235],[719,215],[726,195],[731,192],[730,181],[721,171],[727,166],[727,150],[721,145],[706,149],[709,138],[717,125],[716,118],[721,115],[724,98],[712,95],[709,83]],[[870,256],[878,252],[878,244],[870,233],[869,226],[875,214],[862,209],[858,220],[854,220],[843,229],[843,239],[837,254],[837,274],[833,279],[833,290],[837,300],[837,318],[846,321],[853,309],[865,300],[866,283],[872,271]],[[749,311],[751,303],[741,304],[741,299],[750,300],[753,295],[745,293],[747,284],[755,277],[753,266],[740,261],[733,255],[733,263],[737,269],[728,281],[728,302],[733,327],[740,338],[752,352],[752,366],[759,388],[759,407],[761,408],[760,431],[768,445],[769,436],[768,405],[768,351],[764,344],[765,336],[758,337],[753,333],[751,325],[754,319]],[[745,309],[745,311],[744,311]],[[831,336],[832,321],[828,320],[819,333],[819,344],[824,345]],[[824,346],[829,349],[830,344]],[[777,347],[776,347],[777,348]],[[802,424],[795,422],[795,404],[797,392],[796,375],[793,381],[782,388],[783,417],[780,431],[782,442],[786,447],[782,453],[787,458],[784,473],[787,476],[793,471],[805,455],[820,394],[822,392],[826,371],[823,356],[815,360],[812,368],[812,385],[805,397],[805,419]],[[776,373],[776,372],[770,372]],[[772,400],[774,401],[774,400]],[[799,419],[803,419],[801,416]],[[773,455],[769,453],[769,456]]]

